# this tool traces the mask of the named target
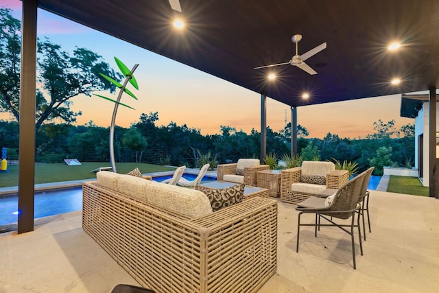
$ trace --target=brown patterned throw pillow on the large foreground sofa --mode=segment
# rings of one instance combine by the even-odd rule
[[[246,187],[246,185],[241,183],[224,189],[204,189],[203,192],[211,202],[212,211],[217,211],[241,202],[244,187]]]

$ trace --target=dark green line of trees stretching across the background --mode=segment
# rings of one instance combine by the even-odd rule
[[[170,122],[156,126],[158,112],[140,116],[130,128],[115,129],[115,158],[119,162],[144,162],[163,165],[196,165],[200,156],[209,154],[217,163],[236,162],[239,158],[259,158],[260,132],[250,133],[230,126],[220,126],[219,134],[202,135],[199,129]],[[394,120],[374,124],[375,133],[364,139],[340,138],[328,133],[323,139],[307,138],[300,126],[298,154],[302,160],[351,161],[359,171],[375,166],[412,167],[414,163],[414,125],[396,130]],[[109,130],[90,121],[84,126],[43,124],[36,136],[36,161],[59,163],[63,159],[109,161]],[[8,159],[18,159],[19,124],[0,120],[2,148],[8,148]],[[279,132],[267,128],[267,153],[281,157],[291,152],[289,125]]]

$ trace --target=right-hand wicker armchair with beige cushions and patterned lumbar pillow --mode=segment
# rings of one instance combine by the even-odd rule
[[[326,189],[339,189],[348,180],[349,172],[336,170],[332,162],[303,161],[302,167],[282,170],[281,200],[297,204]]]

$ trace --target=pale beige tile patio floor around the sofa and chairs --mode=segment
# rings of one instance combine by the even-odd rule
[[[324,227],[302,228],[297,212],[278,200],[278,268],[260,293],[438,292],[439,200],[372,191],[372,233],[352,268],[350,237]],[[304,220],[311,221],[311,215]],[[82,230],[75,211],[36,221],[35,231],[0,234],[0,292],[110,292],[136,284]]]

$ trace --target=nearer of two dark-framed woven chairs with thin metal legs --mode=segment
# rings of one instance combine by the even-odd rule
[[[359,174],[353,180],[345,183],[333,196],[328,198],[316,198],[311,197],[303,202],[297,204],[296,210],[300,211],[298,214],[297,223],[297,245],[296,252],[299,252],[299,235],[300,226],[314,226],[315,236],[317,237],[318,228],[320,226],[337,226],[349,235],[351,235],[352,241],[352,257],[353,257],[353,268],[357,268],[355,263],[355,241],[354,241],[354,228],[358,228],[359,235],[359,248],[360,253],[363,255],[363,245],[361,243],[361,229],[359,223],[359,216],[357,217],[357,224],[355,224],[355,215],[361,209],[361,204],[359,203],[359,198],[361,196],[361,191],[363,188],[364,178],[366,177],[366,172]],[[300,223],[300,216],[303,213],[313,213],[316,215],[316,222],[313,224],[302,224]],[[327,216],[331,218],[327,218]],[[320,218],[327,220],[330,224],[321,224]],[[351,224],[337,224],[333,221],[333,218],[347,220],[351,218]],[[344,227],[350,227],[348,230]]]

